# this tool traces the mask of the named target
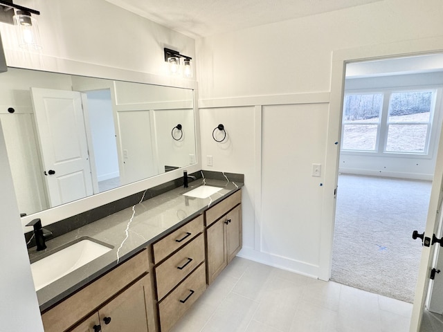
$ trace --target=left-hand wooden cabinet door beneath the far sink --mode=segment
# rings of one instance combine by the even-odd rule
[[[221,218],[206,230],[206,245],[208,246],[208,284],[213,282],[221,270],[228,264],[226,260],[226,237],[225,226],[226,218]]]

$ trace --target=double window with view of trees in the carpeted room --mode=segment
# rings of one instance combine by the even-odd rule
[[[427,154],[434,90],[347,93],[343,151]]]

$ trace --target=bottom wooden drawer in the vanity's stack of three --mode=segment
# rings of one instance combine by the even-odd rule
[[[206,289],[206,267],[201,264],[194,273],[159,303],[161,332],[168,332]]]

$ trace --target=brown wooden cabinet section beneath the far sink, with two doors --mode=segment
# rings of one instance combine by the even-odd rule
[[[242,205],[241,192],[221,201],[206,214],[206,266],[207,282],[211,284],[219,273],[242,248]],[[211,211],[213,210],[214,211]],[[227,212],[228,211],[228,212]],[[224,213],[224,214],[223,214]],[[220,214],[221,218],[217,221]]]

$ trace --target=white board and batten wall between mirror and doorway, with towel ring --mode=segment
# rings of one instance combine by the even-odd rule
[[[202,167],[245,175],[239,255],[329,279],[340,127],[329,106],[334,75],[344,77],[334,54],[415,53],[442,36],[442,15],[440,0],[386,0],[197,39]],[[219,123],[225,144],[211,137]]]

